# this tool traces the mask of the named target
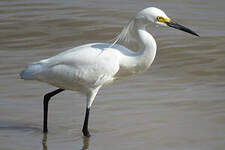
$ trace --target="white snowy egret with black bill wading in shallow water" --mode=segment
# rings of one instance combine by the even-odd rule
[[[64,91],[79,91],[87,96],[83,135],[89,137],[88,120],[91,105],[99,89],[114,80],[144,72],[156,55],[156,42],[146,27],[151,24],[169,26],[198,36],[194,31],[173,22],[162,10],[148,7],[130,19],[114,43],[91,43],[62,52],[54,57],[30,64],[20,76],[38,80],[59,89],[44,96],[43,132],[47,129],[48,102]],[[118,42],[136,42],[134,52]]]

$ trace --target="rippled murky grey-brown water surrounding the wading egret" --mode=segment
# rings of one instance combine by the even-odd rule
[[[73,46],[110,41],[147,6],[162,8],[201,37],[152,28],[154,64],[100,91],[92,137],[81,134],[85,97],[68,91],[51,101],[43,137],[42,98],[55,88],[20,80],[20,70]],[[224,6],[224,0],[1,0],[0,149],[224,150]]]

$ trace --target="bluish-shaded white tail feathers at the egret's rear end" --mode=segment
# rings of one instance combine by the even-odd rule
[[[43,71],[43,65],[41,63],[34,63],[29,65],[26,69],[20,72],[21,79],[33,80],[36,79],[37,74]]]

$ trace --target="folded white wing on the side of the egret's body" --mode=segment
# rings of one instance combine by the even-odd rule
[[[103,51],[93,45],[71,49],[39,63],[44,67],[38,80],[59,87],[103,85],[111,82],[119,70],[117,54],[113,50]]]

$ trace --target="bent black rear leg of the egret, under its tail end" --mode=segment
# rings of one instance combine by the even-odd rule
[[[56,94],[60,93],[64,91],[64,89],[57,89],[55,91],[52,91],[50,93],[47,93],[44,96],[44,101],[43,101],[43,105],[44,105],[44,120],[43,120],[43,132],[47,133],[48,132],[48,127],[47,127],[47,121],[48,121],[48,102],[51,99],[52,96],[55,96]]]

